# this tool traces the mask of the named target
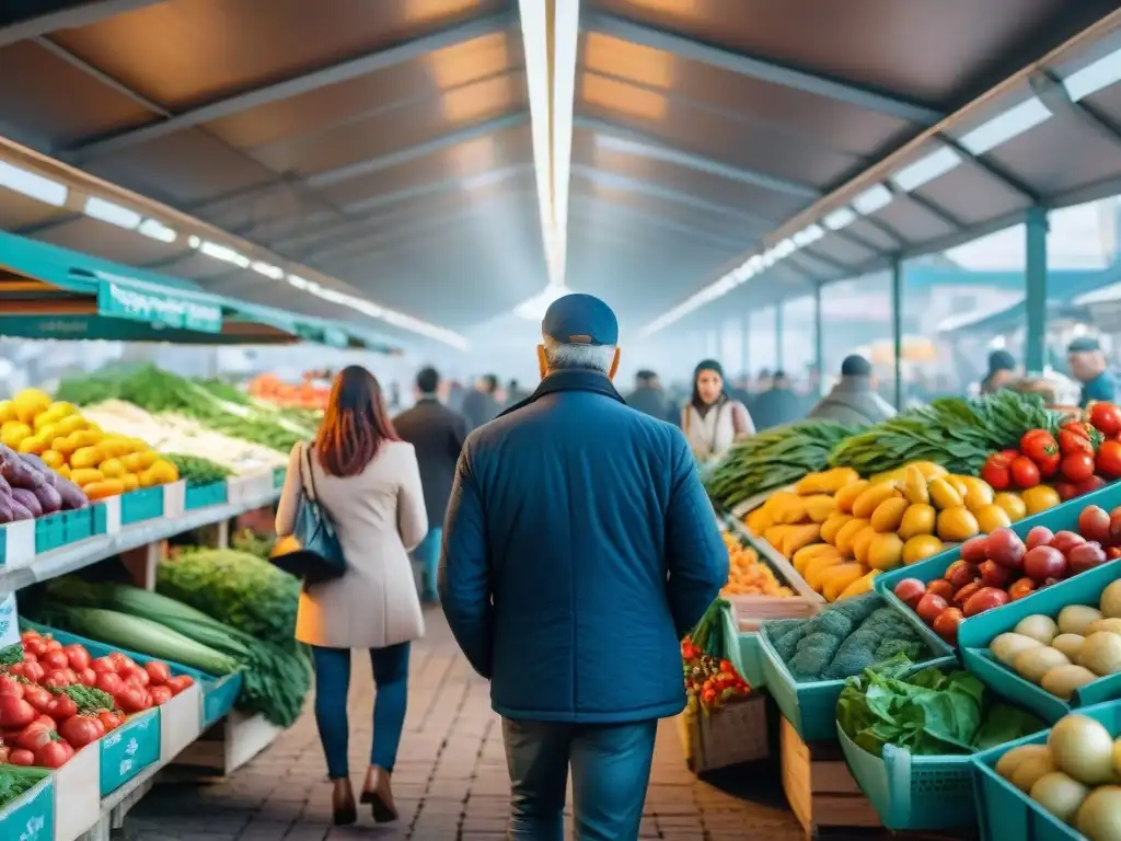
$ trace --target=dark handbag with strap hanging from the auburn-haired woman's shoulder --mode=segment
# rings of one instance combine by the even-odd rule
[[[302,487],[296,503],[296,523],[291,535],[277,540],[270,560],[285,572],[314,584],[341,576],[346,572],[346,560],[334,524],[319,505],[309,451],[311,447],[305,444],[300,454]]]

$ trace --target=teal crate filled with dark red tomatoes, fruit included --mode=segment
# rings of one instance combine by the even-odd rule
[[[1057,581],[1121,557],[1121,512],[1117,538],[1108,512],[1119,502],[1121,486],[1106,486],[1085,500],[886,574],[877,581],[877,590],[905,611],[936,650],[949,653],[957,644],[958,626],[965,627],[973,617],[1021,599],[1031,601],[1037,591]]]

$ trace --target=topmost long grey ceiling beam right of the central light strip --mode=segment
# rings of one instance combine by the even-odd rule
[[[665,29],[639,24],[615,15],[593,12],[584,16],[585,29],[603,33],[614,38],[658,49],[711,67],[729,71],[741,76],[790,87],[804,93],[843,102],[867,111],[892,117],[897,120],[929,127],[942,121],[946,114],[936,108],[914,102],[893,93],[832,78],[800,67],[782,64],[769,58],[733,53],[712,44],[670,33]]]

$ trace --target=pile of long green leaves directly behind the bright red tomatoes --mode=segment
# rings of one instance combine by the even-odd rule
[[[1004,389],[975,400],[944,397],[842,441],[828,463],[867,477],[933,461],[951,473],[976,475],[989,453],[1018,446],[1029,429],[1054,431],[1058,422],[1038,395]]]

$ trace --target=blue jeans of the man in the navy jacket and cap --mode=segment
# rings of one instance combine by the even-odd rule
[[[636,841],[657,721],[568,724],[502,720],[512,841],[562,841],[572,767],[577,841]]]

